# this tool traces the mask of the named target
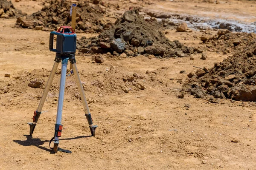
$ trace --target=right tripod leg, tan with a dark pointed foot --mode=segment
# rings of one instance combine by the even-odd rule
[[[95,129],[98,126],[93,125],[93,119],[91,117],[91,114],[90,114],[90,111],[89,111],[89,108],[88,108],[88,104],[87,104],[86,99],[85,99],[84,90],[83,90],[81,80],[79,78],[78,70],[77,70],[77,67],[76,67],[76,60],[72,60],[72,66],[73,66],[74,74],[75,74],[75,77],[76,77],[76,82],[77,82],[77,85],[78,85],[79,93],[81,95],[82,103],[84,105],[85,116],[86,116],[86,119],[88,121],[91,134],[92,134],[92,136],[95,136]]]

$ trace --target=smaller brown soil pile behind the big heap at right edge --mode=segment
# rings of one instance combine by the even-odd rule
[[[247,42],[256,38],[254,33],[230,32],[227,29],[219,29],[215,35],[210,35],[211,31],[209,30],[205,33],[201,36],[201,40],[208,50],[222,52],[223,54],[240,52]]]

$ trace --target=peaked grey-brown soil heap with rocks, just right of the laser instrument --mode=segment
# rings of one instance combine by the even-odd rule
[[[170,41],[153,20],[145,21],[137,9],[126,11],[114,26],[99,37],[78,40],[77,48],[84,53],[108,53],[123,56],[154,55],[160,57],[186,57],[197,49],[187,47],[178,40]]]

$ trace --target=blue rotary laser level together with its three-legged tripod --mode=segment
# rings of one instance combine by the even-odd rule
[[[56,40],[56,49],[53,49],[53,42],[54,42],[54,35],[57,36]],[[40,103],[38,105],[37,110],[34,112],[33,116],[33,122],[28,123],[30,127],[29,134],[32,135],[35,126],[38,122],[38,119],[41,115],[42,108],[44,106],[44,102],[46,100],[47,94],[49,92],[49,88],[52,84],[53,77],[55,75],[55,72],[57,71],[58,64],[61,62],[61,80],[60,80],[60,90],[59,90],[59,96],[58,96],[58,108],[57,108],[57,116],[56,116],[56,124],[55,124],[55,131],[54,131],[54,137],[50,140],[49,145],[54,140],[53,147],[50,147],[52,150],[54,150],[55,153],[58,151],[71,153],[70,150],[64,150],[58,147],[59,144],[59,137],[61,137],[63,125],[61,125],[61,117],[62,117],[62,109],[63,109],[63,101],[64,101],[64,90],[65,90],[65,80],[66,80],[66,73],[67,73],[67,63],[70,61],[70,64],[73,68],[73,73],[76,78],[76,82],[78,85],[78,90],[81,96],[81,100],[84,106],[85,116],[88,121],[90,132],[92,136],[95,136],[95,129],[98,127],[97,125],[93,125],[93,119],[91,117],[85,95],[84,90],[81,84],[81,80],[79,78],[78,70],[76,67],[76,34],[73,31],[73,29],[69,26],[61,26],[61,28],[58,29],[58,31],[52,31],[50,33],[50,39],[49,39],[49,50],[56,53],[55,56],[55,62],[51,71],[51,74],[49,76],[49,79],[47,81],[47,85],[44,89],[43,96],[41,97]]]

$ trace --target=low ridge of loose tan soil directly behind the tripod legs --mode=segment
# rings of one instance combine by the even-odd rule
[[[9,99],[11,102],[6,101],[6,106],[13,105],[15,102],[18,105],[17,100],[20,94],[25,94],[24,98],[29,100],[40,99],[42,91],[47,84],[47,80],[50,75],[50,70],[47,69],[34,69],[33,71],[23,71],[8,81],[0,82],[0,98]],[[130,72],[127,73],[122,69],[111,66],[106,68],[105,72],[86,72],[84,70],[79,71],[81,82],[87,94],[99,94],[108,95],[124,94],[124,93],[137,93],[137,91],[147,90],[155,86],[166,86],[168,79],[161,79],[158,75],[161,73],[161,69],[146,72]],[[56,103],[58,101],[59,81],[61,70],[56,71],[52,85],[49,89],[49,102]],[[41,89],[41,90],[38,90]],[[79,91],[76,84],[74,75],[70,75],[67,71],[65,99],[68,101],[79,99]],[[88,98],[89,103],[96,102],[95,99]],[[15,105],[16,105],[15,104]]]

